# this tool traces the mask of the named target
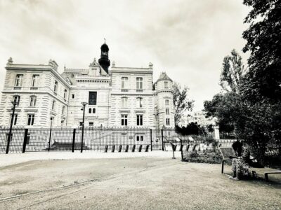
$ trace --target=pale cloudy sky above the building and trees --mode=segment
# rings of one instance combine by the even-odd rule
[[[9,57],[17,64],[86,69],[104,38],[116,66],[165,71],[188,86],[194,111],[220,92],[223,57],[245,41],[249,8],[242,0],[0,0],[0,89]]]

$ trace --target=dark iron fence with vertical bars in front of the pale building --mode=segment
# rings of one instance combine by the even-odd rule
[[[0,153],[39,151],[148,152],[163,150],[163,130],[149,127],[0,127]]]

